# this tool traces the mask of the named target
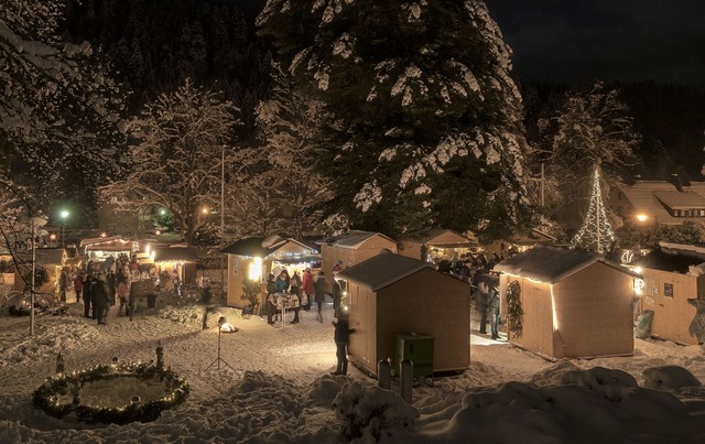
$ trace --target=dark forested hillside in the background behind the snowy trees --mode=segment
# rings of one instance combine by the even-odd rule
[[[242,110],[251,133],[253,109],[268,94],[271,48],[257,36],[264,1],[83,0],[73,2],[65,32],[100,46],[112,74],[131,91],[134,112],[185,77],[223,90]],[[642,136],[643,164],[634,174],[665,180],[677,173],[701,180],[705,162],[705,91],[653,82],[608,85],[621,91]],[[536,119],[560,100],[565,85],[523,85],[529,138]]]

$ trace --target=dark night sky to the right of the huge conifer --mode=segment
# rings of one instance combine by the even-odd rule
[[[705,0],[486,0],[522,82],[705,87]]]

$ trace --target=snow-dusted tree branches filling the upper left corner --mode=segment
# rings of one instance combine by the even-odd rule
[[[88,43],[57,35],[61,0],[0,0],[0,139],[15,182],[53,184],[83,167],[87,183],[113,172],[120,95]]]

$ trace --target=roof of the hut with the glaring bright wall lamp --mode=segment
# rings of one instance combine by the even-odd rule
[[[276,235],[268,237],[249,236],[235,241],[220,250],[227,255],[261,258],[283,263],[297,263],[319,260],[315,248],[296,239],[283,239]]]

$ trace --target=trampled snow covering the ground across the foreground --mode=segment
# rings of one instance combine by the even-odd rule
[[[698,346],[637,339],[632,357],[554,362],[474,331],[470,368],[417,381],[409,405],[398,381],[387,391],[355,367],[347,377],[329,375],[330,304],[323,324],[302,312],[300,324],[283,328],[223,307],[203,331],[200,310],[158,301],[158,310],[129,321],[113,307],[99,326],[70,304],[67,314],[37,316],[34,336],[29,317],[0,316],[0,443],[705,442]],[[216,361],[219,316],[239,328],[221,334],[223,361]],[[153,360],[158,342],[165,365],[191,386],[186,402],[159,420],[70,423],[32,407],[58,350],[70,371],[113,356]]]

